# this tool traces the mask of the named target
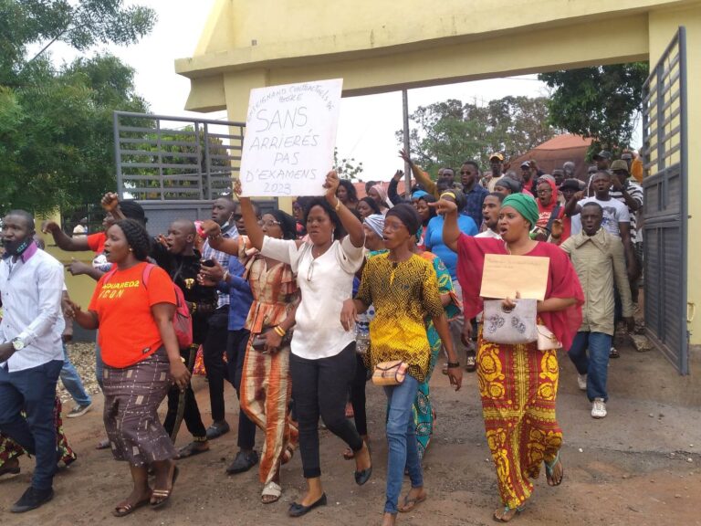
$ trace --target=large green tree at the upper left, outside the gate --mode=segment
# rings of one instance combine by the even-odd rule
[[[0,0],[0,207],[69,209],[114,189],[112,111],[147,109],[134,71],[110,54],[57,67],[48,48],[134,42],[155,16],[122,3]]]

